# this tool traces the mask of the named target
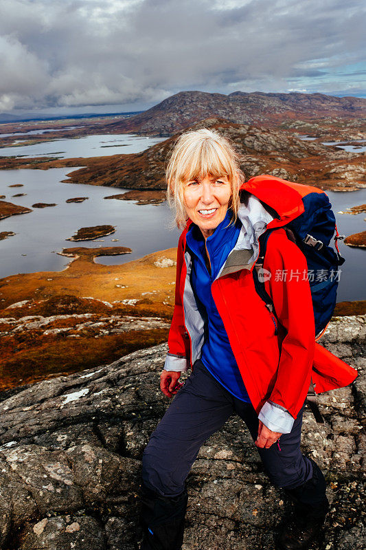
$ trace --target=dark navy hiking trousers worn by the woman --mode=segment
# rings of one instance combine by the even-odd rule
[[[271,482],[284,487],[289,496],[301,500],[299,487],[308,487],[302,493],[306,495],[304,505],[317,507],[325,498],[325,481],[323,474],[313,461],[303,456],[300,451],[301,422],[304,407],[301,408],[293,429],[289,434],[282,434],[279,445],[274,443],[269,449],[257,448],[264,470]],[[251,404],[237,399],[227,391],[207,371],[198,360],[192,374],[175,395],[170,407],[165,412],[150,441],[144,450],[142,459],[142,521],[150,533],[150,545],[145,542],[142,549],[165,549],[159,544],[152,545],[154,526],[169,524],[170,518],[176,521],[176,505],[169,507],[170,499],[185,501],[185,479],[189,474],[201,445],[236,412],[247,424],[251,437],[257,439],[258,416]],[[279,447],[281,450],[279,450]],[[307,483],[312,480],[313,465],[317,469],[319,483]],[[319,472],[320,474],[319,474]],[[293,494],[294,493],[294,494]],[[154,500],[155,496],[155,500]],[[159,507],[159,518],[151,514],[152,503],[156,499],[165,503],[164,511]],[[145,503],[145,504],[144,504]],[[150,507],[148,505],[150,503]],[[168,544],[169,550],[181,548],[183,540],[183,522],[185,508],[181,507],[181,538]],[[149,511],[148,511],[149,510]],[[174,545],[175,544],[175,545]]]

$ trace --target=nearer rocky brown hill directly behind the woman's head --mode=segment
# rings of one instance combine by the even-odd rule
[[[216,129],[236,144],[242,155],[241,168],[247,179],[259,174],[271,174],[290,181],[337,190],[356,189],[358,184],[366,184],[363,155],[300,140],[284,131],[234,124],[220,118],[201,120],[189,129],[202,127]],[[177,133],[142,153],[72,159],[74,166],[84,164],[87,168],[69,174],[65,182],[117,188],[165,189],[165,167],[179,135]],[[24,159],[24,162],[27,160]],[[60,162],[48,163],[47,167],[58,166]],[[63,162],[65,164],[71,165]],[[3,168],[6,167],[4,164]],[[349,185],[349,181],[352,185]]]

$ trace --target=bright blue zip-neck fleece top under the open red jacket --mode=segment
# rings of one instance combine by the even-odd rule
[[[186,242],[192,252],[192,289],[198,307],[203,309],[207,318],[201,361],[227,391],[241,401],[250,403],[227,332],[211,294],[211,284],[224,265],[229,252],[236,245],[242,226],[240,220],[237,220],[235,225],[228,226],[231,214],[231,210],[227,210],[225,219],[218,225],[214,234],[206,240],[211,261],[211,274],[205,264],[205,239],[194,223],[190,225],[187,232]]]

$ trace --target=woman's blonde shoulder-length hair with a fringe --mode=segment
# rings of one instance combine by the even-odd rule
[[[231,184],[229,207],[233,211],[232,222],[236,221],[239,206],[239,189],[244,174],[239,167],[240,156],[233,144],[216,130],[203,128],[188,131],[179,136],[166,168],[167,197],[175,210],[175,222],[183,228],[187,222],[183,190],[184,184],[192,179],[211,175],[226,176]]]

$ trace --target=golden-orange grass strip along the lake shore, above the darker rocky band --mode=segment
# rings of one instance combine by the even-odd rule
[[[174,285],[170,283],[175,281],[176,249],[148,254],[123,265],[94,263],[93,257],[107,255],[119,248],[66,248],[62,253],[76,256],[76,259],[63,271],[17,274],[1,279],[0,307],[3,309],[0,316],[14,316],[14,309],[5,309],[14,303],[30,298],[47,300],[64,294],[78,298],[91,296],[108,303],[117,301],[124,314],[133,311],[138,315],[140,310],[143,315],[161,317],[164,312],[166,314],[174,298]],[[167,260],[167,267],[158,267],[161,259]],[[138,301],[135,305],[122,303],[122,300],[131,299]]]

